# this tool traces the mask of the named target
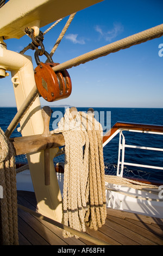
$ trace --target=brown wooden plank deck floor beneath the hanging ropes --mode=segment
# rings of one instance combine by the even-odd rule
[[[33,192],[17,191],[18,204],[36,210]],[[105,225],[98,231],[87,229],[93,237],[110,245],[163,245],[163,219],[107,209]],[[18,209],[20,245],[94,245],[82,238],[64,239],[62,230]]]

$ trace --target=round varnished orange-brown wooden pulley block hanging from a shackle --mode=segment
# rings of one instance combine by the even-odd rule
[[[67,72],[54,72],[52,67],[59,63],[40,63],[34,70],[37,90],[46,101],[65,99],[72,91],[71,78]]]

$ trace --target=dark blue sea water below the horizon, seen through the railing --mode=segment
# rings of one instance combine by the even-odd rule
[[[77,108],[78,111],[86,112],[88,107]],[[116,122],[126,123],[140,123],[140,124],[153,124],[163,125],[163,108],[93,108],[96,112],[97,119],[103,125],[103,133],[109,130]],[[65,113],[64,107],[52,107],[52,117],[50,121],[50,130],[53,130],[53,124],[57,123],[59,115],[62,117]],[[17,112],[16,107],[1,107],[0,108],[0,127],[5,131],[14,118]],[[99,115],[97,114],[99,113]],[[101,120],[100,120],[101,119]],[[19,126],[19,125],[18,125]],[[17,126],[17,127],[18,127]],[[148,133],[138,132],[123,132],[126,144],[138,145],[143,147],[163,148],[163,135],[155,135]],[[21,134],[17,129],[12,132],[11,137],[19,137]],[[104,162],[109,166],[109,172],[116,174],[116,166],[118,160],[118,142],[119,135],[116,135],[108,144],[103,148]],[[151,166],[163,167],[163,152],[154,150],[143,149],[129,149],[125,150],[125,162],[132,162],[138,164],[147,164]],[[107,172],[107,170],[106,170]],[[152,168],[137,168],[125,167],[124,174],[126,176],[141,177],[148,180],[163,181],[163,170]]]

